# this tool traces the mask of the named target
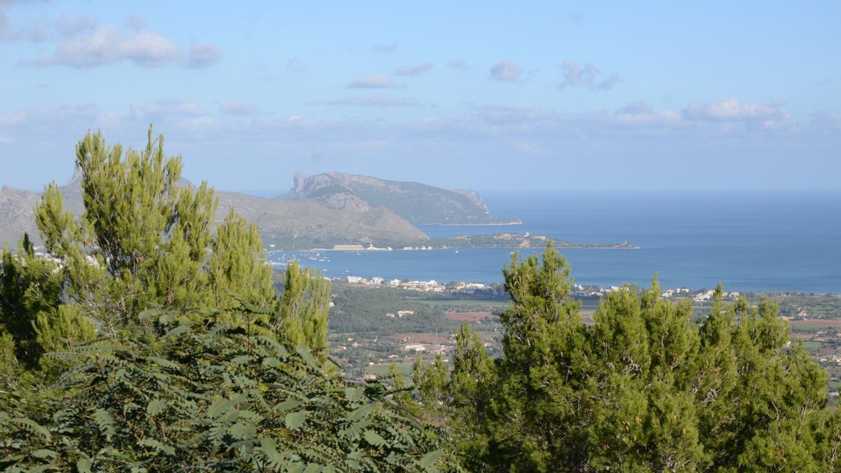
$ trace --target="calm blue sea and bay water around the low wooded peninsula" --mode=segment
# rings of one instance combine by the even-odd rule
[[[841,293],[841,191],[486,191],[506,226],[421,226],[432,238],[505,231],[577,243],[629,242],[639,249],[566,249],[575,282],[602,287]],[[539,250],[519,252],[523,257]],[[270,252],[331,278],[502,281],[510,249]]]

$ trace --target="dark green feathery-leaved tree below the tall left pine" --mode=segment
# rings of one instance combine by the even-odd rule
[[[160,310],[77,359],[55,401],[0,398],[8,470],[431,470],[442,444],[378,383],[325,375],[278,314]]]

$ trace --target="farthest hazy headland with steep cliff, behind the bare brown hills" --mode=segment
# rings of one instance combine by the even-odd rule
[[[315,199],[330,208],[382,205],[415,225],[498,223],[479,194],[422,183],[387,181],[347,173],[295,174],[295,187],[280,199]]]

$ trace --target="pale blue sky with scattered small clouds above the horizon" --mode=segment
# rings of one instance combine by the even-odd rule
[[[841,189],[841,3],[0,0],[0,184],[87,130],[184,177]]]

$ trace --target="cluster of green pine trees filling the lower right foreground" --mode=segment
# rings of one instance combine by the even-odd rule
[[[827,376],[770,300],[725,305],[719,287],[693,322],[655,277],[606,295],[587,327],[551,245],[504,274],[505,357],[489,366],[460,341],[452,372],[415,373],[425,411],[446,413],[482,470],[838,470]]]

